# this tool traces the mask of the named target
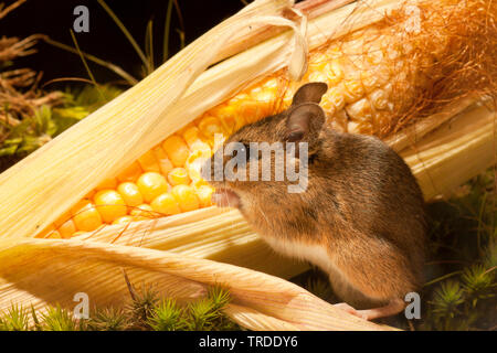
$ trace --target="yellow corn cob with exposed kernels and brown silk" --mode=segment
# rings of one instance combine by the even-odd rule
[[[433,107],[426,101],[438,101],[440,109],[442,101],[474,92],[491,92],[495,63],[490,60],[483,67],[468,64],[464,52],[475,49],[467,41],[454,41],[453,32],[459,23],[446,21],[451,19],[447,13],[454,19],[457,11],[477,13],[482,4],[446,1],[445,7],[435,11],[423,3],[417,9],[420,13],[432,14],[430,26],[406,31],[412,18],[398,11],[390,20],[327,43],[310,53],[302,82],[289,83],[284,71],[260,79],[169,136],[116,178],[103,181],[38,236],[67,238],[96,231],[104,224],[210,206],[213,190],[200,178],[200,162],[212,154],[214,135],[228,137],[245,124],[282,111],[306,82],[328,84],[320,105],[331,128],[379,137],[398,131],[415,116],[431,114]],[[468,25],[466,34],[472,31]],[[495,45],[489,50],[495,52]],[[450,82],[443,79],[447,75]],[[433,90],[435,85],[437,89]]]

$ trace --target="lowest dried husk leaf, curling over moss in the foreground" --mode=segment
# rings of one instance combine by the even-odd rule
[[[121,304],[129,295],[124,268],[131,282],[152,282],[179,301],[204,295],[207,285],[223,285],[232,296],[228,313],[254,330],[387,329],[334,309],[283,279],[232,265],[80,240],[3,239],[0,248],[0,263],[9,264],[0,268],[1,308],[10,300],[35,309],[47,302],[71,308],[76,292],[99,306]]]

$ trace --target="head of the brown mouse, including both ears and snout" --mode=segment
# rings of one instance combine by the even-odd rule
[[[326,116],[318,104],[327,88],[324,83],[303,85],[288,109],[246,125],[224,141],[202,167],[202,176],[216,188],[214,203],[243,208],[254,196],[288,193],[295,175],[289,178],[287,164],[299,169],[299,158],[319,148]]]

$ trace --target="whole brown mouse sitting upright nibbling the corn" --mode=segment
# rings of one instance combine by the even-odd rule
[[[336,308],[366,320],[398,314],[405,295],[423,284],[423,194],[404,160],[382,140],[327,124],[319,106],[327,89],[319,82],[300,86],[286,110],[225,139],[202,175],[215,189],[215,205],[237,208],[276,253],[325,271],[342,300]],[[268,156],[262,145],[275,148]],[[226,151],[230,146],[237,148]],[[282,163],[306,171],[304,186],[289,192],[298,185],[295,175],[276,178]],[[226,169],[219,173],[223,168],[236,178]]]

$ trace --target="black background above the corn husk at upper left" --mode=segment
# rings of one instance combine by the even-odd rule
[[[12,2],[8,0],[6,4]],[[154,51],[156,66],[158,66],[157,63],[161,62],[168,0],[106,0],[106,3],[142,50],[147,22],[150,19],[154,20]],[[28,0],[0,20],[0,35],[22,39],[42,33],[74,47],[70,30],[76,19],[73,14],[74,8],[78,4],[84,4],[89,10],[89,33],[75,33],[81,50],[112,62],[140,78],[139,56],[96,0]],[[187,44],[244,7],[241,0],[178,0],[178,4],[183,18]],[[179,50],[179,35],[176,29],[180,29],[180,22],[173,9],[170,54]],[[60,77],[88,78],[77,55],[44,42],[40,42],[36,50],[38,53],[33,55],[15,58],[15,67],[31,67],[36,72],[43,72],[42,83]],[[99,65],[91,63],[91,69],[98,83],[120,79]],[[57,84],[54,84],[50,88],[56,88],[56,86]]]

